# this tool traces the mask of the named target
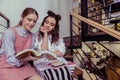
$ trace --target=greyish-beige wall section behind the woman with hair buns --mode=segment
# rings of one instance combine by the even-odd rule
[[[62,16],[60,21],[60,35],[62,37],[70,36],[70,18],[69,13],[72,11],[73,0],[48,0],[47,9],[54,11]],[[52,4],[52,5],[51,5]]]

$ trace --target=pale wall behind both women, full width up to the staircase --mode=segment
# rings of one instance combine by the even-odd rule
[[[60,21],[60,35],[69,36],[69,12],[72,10],[72,0],[0,0],[0,11],[10,19],[10,26],[15,26],[25,7],[33,7],[39,13],[39,20],[36,27],[32,30],[38,30],[47,10],[53,10],[62,16]]]

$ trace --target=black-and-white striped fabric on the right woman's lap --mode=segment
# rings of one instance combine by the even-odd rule
[[[45,70],[44,77],[45,80],[73,80],[71,73],[65,66]]]

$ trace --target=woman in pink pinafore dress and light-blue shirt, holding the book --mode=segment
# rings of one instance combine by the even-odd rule
[[[37,19],[37,11],[26,8],[19,24],[4,32],[0,49],[0,80],[43,80],[28,62],[15,57],[18,52],[34,46],[35,36],[30,30]]]

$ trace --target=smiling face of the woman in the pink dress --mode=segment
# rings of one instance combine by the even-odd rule
[[[26,31],[31,30],[35,26],[37,19],[38,19],[37,15],[32,14],[32,13],[28,14],[24,18],[22,17],[22,19],[21,19],[22,20],[22,25],[21,25],[22,28]]]

